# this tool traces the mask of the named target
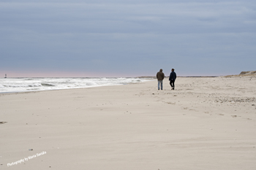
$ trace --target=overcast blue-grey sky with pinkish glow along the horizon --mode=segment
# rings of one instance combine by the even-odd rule
[[[0,0],[0,77],[256,70],[255,0]]]

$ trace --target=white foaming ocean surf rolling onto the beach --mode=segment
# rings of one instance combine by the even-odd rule
[[[1,78],[0,93],[92,88],[147,81],[143,78]]]

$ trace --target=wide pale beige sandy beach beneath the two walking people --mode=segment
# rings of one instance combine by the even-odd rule
[[[154,80],[1,94],[0,169],[256,169],[255,87],[178,77],[176,90]]]

